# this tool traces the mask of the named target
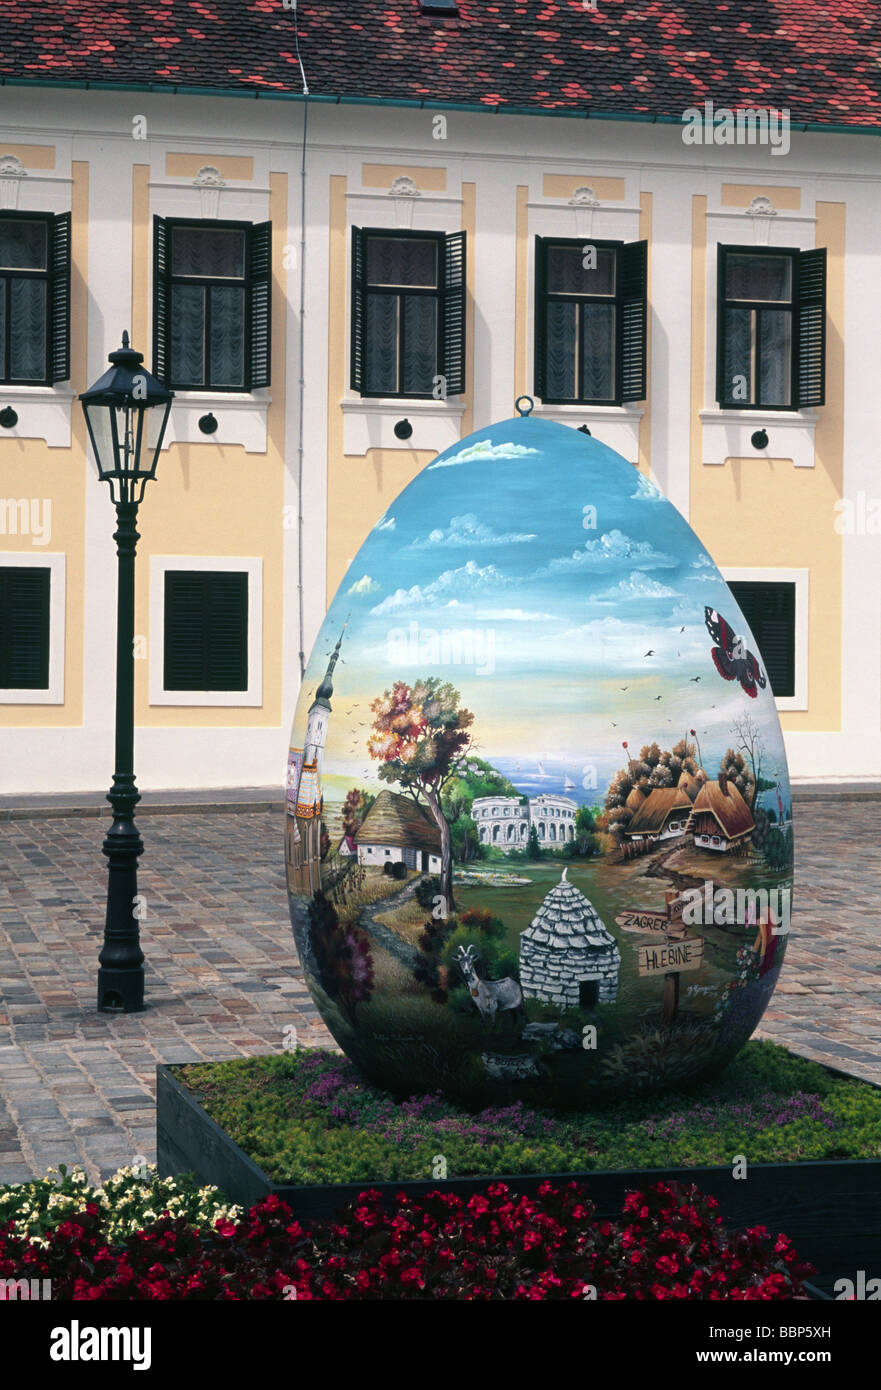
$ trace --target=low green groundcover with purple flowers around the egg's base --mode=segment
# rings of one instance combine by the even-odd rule
[[[399,1182],[832,1158],[881,1152],[881,1090],[774,1042],[749,1042],[688,1094],[553,1115],[468,1113],[440,1095],[399,1102],[339,1054],[300,1049],[175,1074],[278,1183]]]

